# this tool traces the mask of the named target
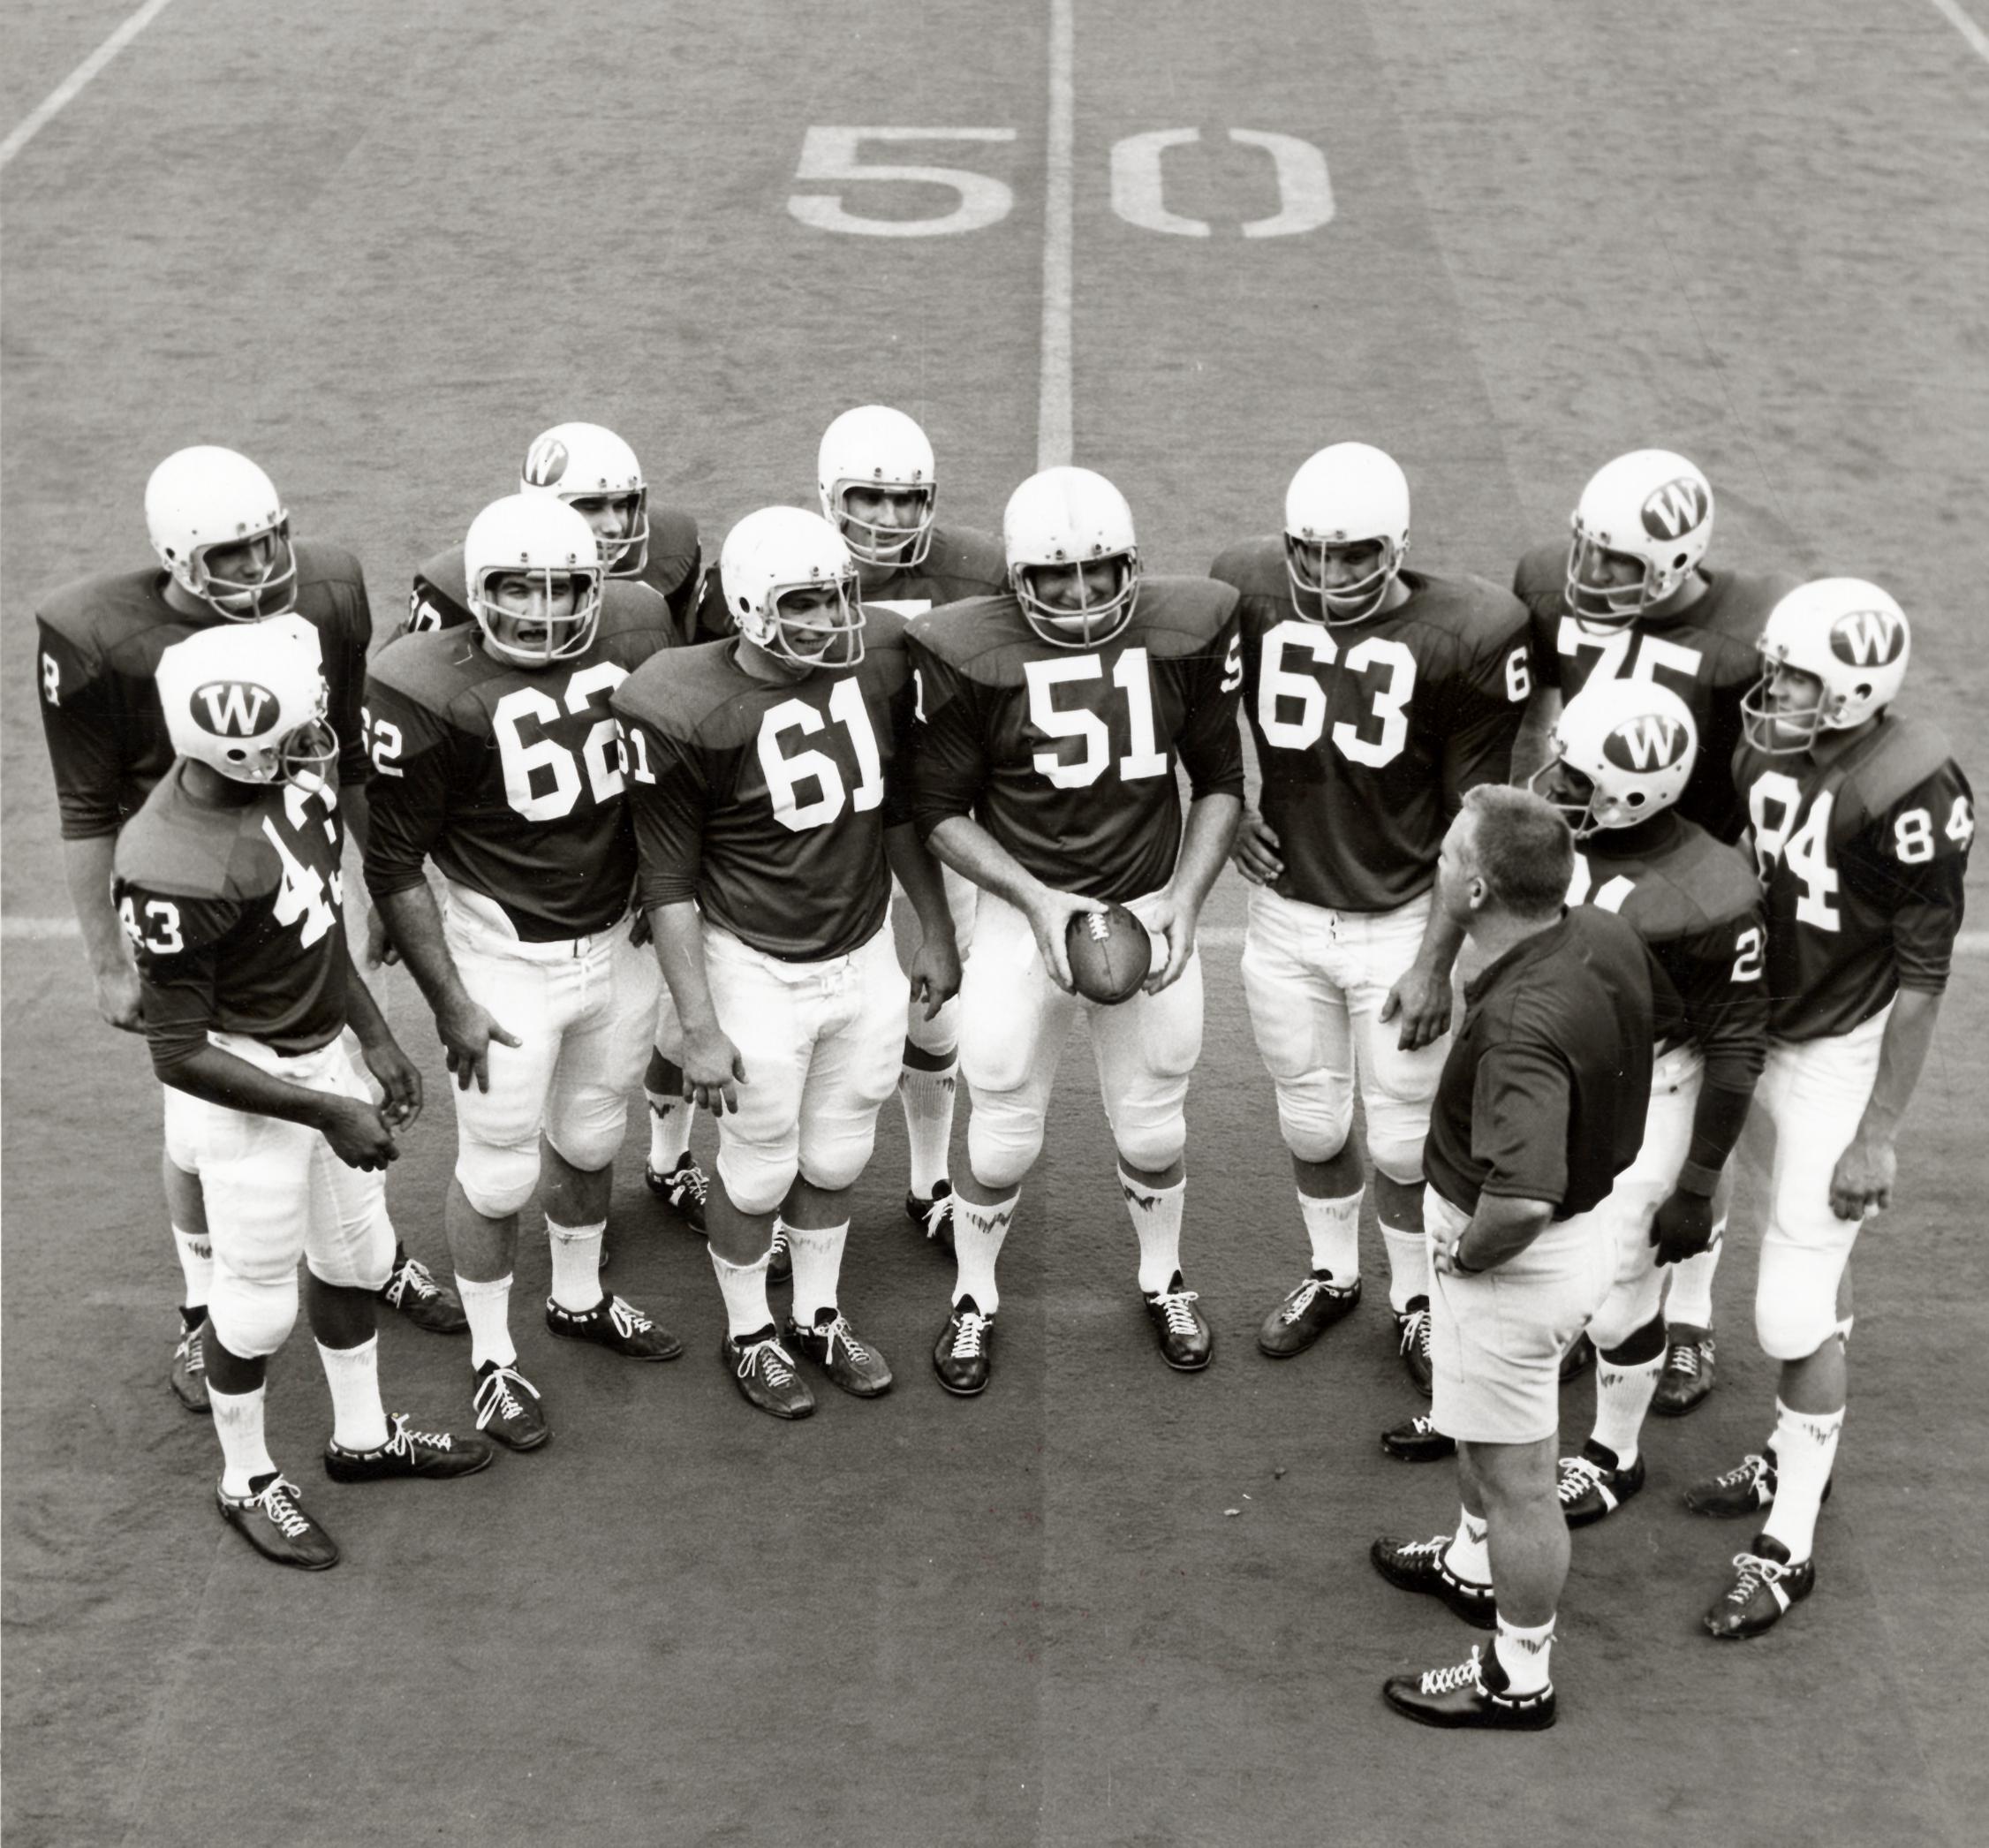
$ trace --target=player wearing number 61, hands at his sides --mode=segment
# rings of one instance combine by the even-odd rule
[[[815,1398],[794,1355],[859,1398],[891,1386],[837,1285],[849,1190],[897,1074],[893,871],[919,915],[911,981],[927,1015],[959,987],[959,955],[897,770],[903,619],[865,621],[849,547],[800,507],[746,515],[718,573],[736,639],[652,660],[615,712],[684,1076],[718,1114],[720,1359],[750,1404],[806,1418]],[[784,1337],[766,1297],[776,1213],[794,1263]]]

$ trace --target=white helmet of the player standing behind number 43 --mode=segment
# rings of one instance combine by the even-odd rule
[[[145,531],[173,583],[231,623],[274,617],[296,603],[290,515],[276,485],[247,456],[213,444],[175,450],[145,483]],[[207,569],[217,545],[257,539],[267,541],[259,575],[219,577]]]

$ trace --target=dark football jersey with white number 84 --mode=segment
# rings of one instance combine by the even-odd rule
[[[1828,766],[1742,744],[1734,784],[1768,891],[1778,1040],[1850,1032],[1899,989],[1947,987],[1975,802],[1935,726],[1882,718]]]

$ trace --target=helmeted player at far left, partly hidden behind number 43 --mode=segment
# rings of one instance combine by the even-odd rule
[[[290,513],[247,456],[195,446],[167,456],[145,483],[145,529],[159,565],[113,571],[54,591],[36,621],[42,728],[62,808],[70,903],[95,977],[97,1013],[139,1028],[139,979],[111,909],[117,832],[173,760],[153,678],[159,656],[203,629],[296,611],[318,631],[340,738],[346,828],[366,837],[366,746],[360,696],[372,615],[352,553],[292,539]],[[207,1211],[185,1148],[161,1160],[173,1245],[185,1279],[169,1381],[181,1404],[207,1410],[205,1327],[213,1279]],[[400,1253],[386,1301],[418,1327],[459,1333],[461,1307],[420,1259]]]

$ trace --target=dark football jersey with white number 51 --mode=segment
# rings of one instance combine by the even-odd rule
[[[1175,766],[1199,796],[1243,796],[1235,591],[1150,577],[1096,648],[1046,643],[1012,595],[913,617],[913,810],[929,835],[975,816],[1034,877],[1136,899],[1174,875]]]

